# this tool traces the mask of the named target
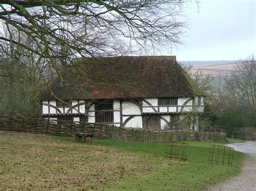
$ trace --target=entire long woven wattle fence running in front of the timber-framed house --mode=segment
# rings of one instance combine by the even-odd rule
[[[98,139],[117,139],[130,142],[175,142],[177,140],[197,140],[198,133],[194,131],[146,130],[120,128],[102,123],[83,123],[56,121],[43,118],[11,118],[0,116],[0,130],[30,132],[45,135],[73,137],[76,132],[92,132]],[[220,142],[226,140],[226,135],[214,133],[214,139]],[[207,134],[207,137],[209,134]],[[217,138],[218,137],[218,138]],[[206,141],[206,140],[205,140]],[[208,140],[213,141],[213,140]]]

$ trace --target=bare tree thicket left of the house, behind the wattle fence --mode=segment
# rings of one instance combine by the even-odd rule
[[[30,48],[35,44],[14,27],[4,27],[3,36],[20,41]],[[43,82],[49,82],[49,70],[44,59],[8,42],[0,45],[0,115],[38,117],[38,97],[44,89]]]

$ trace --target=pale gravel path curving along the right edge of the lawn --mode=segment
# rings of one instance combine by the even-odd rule
[[[228,144],[235,151],[246,153],[241,174],[207,190],[256,191],[256,142]]]

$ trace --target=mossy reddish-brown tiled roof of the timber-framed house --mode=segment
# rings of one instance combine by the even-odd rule
[[[176,61],[176,56],[122,56],[78,59],[63,72],[63,86],[51,89],[60,99],[192,97],[204,95]],[[77,72],[79,71],[79,73]],[[42,100],[55,100],[45,91]]]

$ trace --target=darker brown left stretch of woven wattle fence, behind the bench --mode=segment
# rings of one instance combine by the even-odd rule
[[[106,124],[57,121],[44,118],[0,117],[0,130],[30,132],[45,135],[72,137],[76,132],[90,131],[96,138],[108,139],[117,127]]]

